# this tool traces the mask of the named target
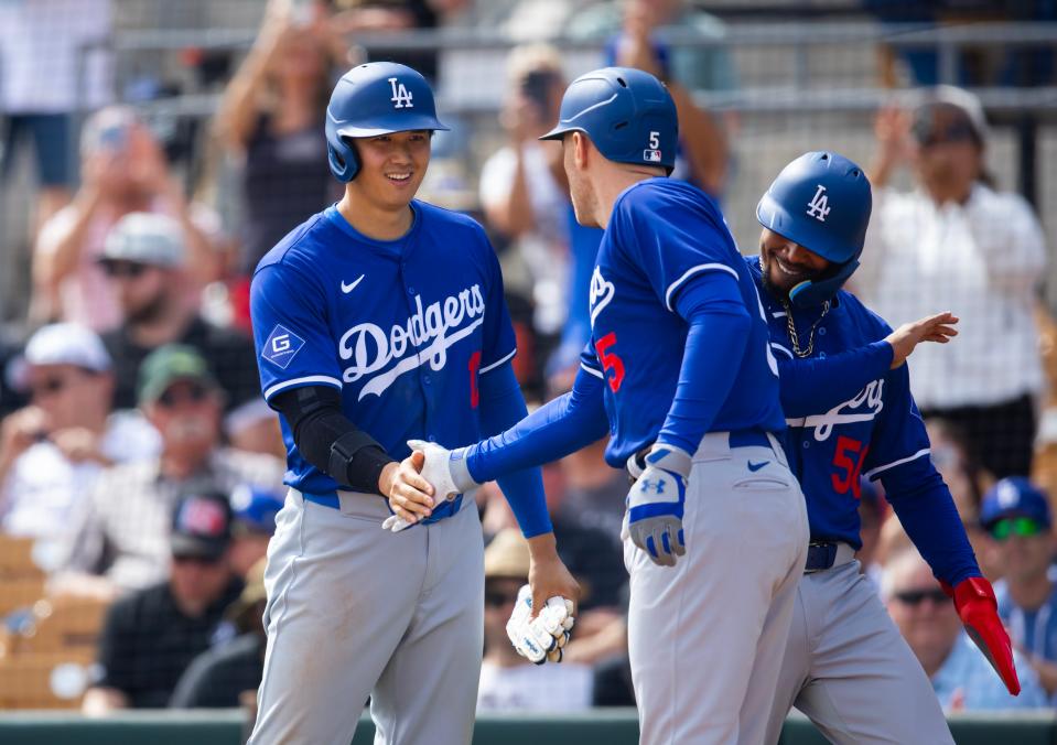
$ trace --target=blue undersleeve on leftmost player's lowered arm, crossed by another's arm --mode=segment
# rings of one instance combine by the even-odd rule
[[[481,379],[481,423],[486,434],[497,434],[527,415],[525,398],[510,363],[504,363]],[[539,468],[509,471],[497,481],[526,538],[553,530]]]

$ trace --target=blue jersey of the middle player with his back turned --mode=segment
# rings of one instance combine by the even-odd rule
[[[763,305],[723,215],[695,186],[649,179],[613,206],[591,278],[591,344],[581,356],[581,366],[606,381],[605,460],[614,467],[660,432],[689,328],[672,309],[679,291],[705,271],[731,274],[753,318],[741,359],[715,350],[716,364],[736,365],[737,376],[711,431],[785,428]]]

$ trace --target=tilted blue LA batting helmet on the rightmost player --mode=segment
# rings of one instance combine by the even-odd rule
[[[826,279],[792,288],[792,303],[818,305],[848,281],[859,267],[872,205],[866,174],[843,155],[809,152],[781,170],[756,206],[756,219],[837,264]]]

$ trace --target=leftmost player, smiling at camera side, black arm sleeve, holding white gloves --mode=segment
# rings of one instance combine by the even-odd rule
[[[326,112],[345,195],[254,276],[261,387],[281,413],[290,486],[265,574],[257,745],[348,745],[368,695],[376,743],[471,741],[481,523],[472,497],[434,504],[418,473],[423,456],[409,456],[407,441],[475,441],[526,408],[484,230],[413,198],[438,129],[446,128],[419,73],[384,62],[346,73]],[[533,589],[574,598],[539,472],[508,473],[500,486],[530,539]],[[386,498],[412,496],[429,505],[423,525],[382,531]]]

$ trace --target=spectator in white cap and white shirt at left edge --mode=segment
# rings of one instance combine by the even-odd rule
[[[138,413],[111,414],[110,357],[94,332],[45,326],[22,364],[32,403],[0,429],[0,515],[3,532],[54,547],[104,467],[155,456],[160,442]]]

